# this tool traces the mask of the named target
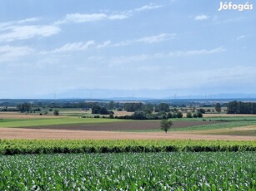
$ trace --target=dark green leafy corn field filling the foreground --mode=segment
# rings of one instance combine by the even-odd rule
[[[1,190],[255,190],[256,153],[0,156]]]

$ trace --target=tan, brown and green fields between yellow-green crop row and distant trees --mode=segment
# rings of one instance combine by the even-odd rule
[[[203,119],[185,117],[171,119],[173,126],[170,132],[164,135],[160,130],[160,120],[83,118],[68,115],[71,112],[84,111],[63,110],[62,112],[62,116],[57,117],[2,112],[0,139],[256,140],[255,115],[220,114],[205,116]]]

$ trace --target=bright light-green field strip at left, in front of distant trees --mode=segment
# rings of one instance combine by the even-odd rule
[[[76,125],[76,124],[101,124],[120,122],[123,120],[103,118],[54,118],[54,119],[28,119],[28,120],[0,120],[1,127],[32,127],[47,125]]]

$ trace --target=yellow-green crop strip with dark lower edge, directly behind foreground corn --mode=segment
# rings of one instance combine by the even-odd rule
[[[0,140],[0,154],[256,151],[256,140]]]

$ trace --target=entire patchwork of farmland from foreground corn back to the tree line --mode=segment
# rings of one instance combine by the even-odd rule
[[[255,115],[94,116],[1,112],[0,190],[255,190]]]

